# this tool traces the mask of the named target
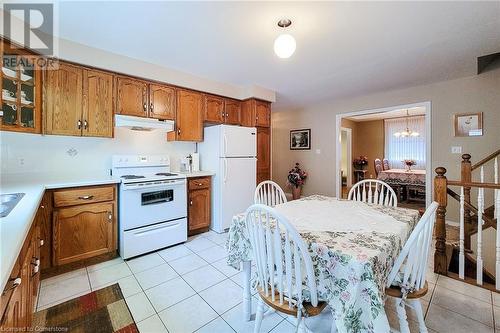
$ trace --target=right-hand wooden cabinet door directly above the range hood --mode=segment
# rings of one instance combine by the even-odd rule
[[[175,119],[175,89],[157,84],[149,85],[149,116],[157,119]]]

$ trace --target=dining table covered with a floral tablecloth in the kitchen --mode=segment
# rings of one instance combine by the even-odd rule
[[[274,207],[297,229],[312,258],[318,299],[338,332],[389,332],[385,287],[394,261],[419,220],[413,209],[312,195]],[[245,213],[233,217],[227,264],[243,272],[243,316],[250,320],[252,246]],[[304,285],[303,295],[307,300]]]

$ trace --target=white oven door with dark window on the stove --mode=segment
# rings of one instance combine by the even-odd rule
[[[186,217],[186,180],[122,184],[119,211],[120,230]]]

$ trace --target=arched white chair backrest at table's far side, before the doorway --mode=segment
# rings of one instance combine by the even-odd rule
[[[377,179],[365,179],[357,182],[349,190],[347,199],[382,206],[396,207],[398,205],[394,190],[387,183]]]

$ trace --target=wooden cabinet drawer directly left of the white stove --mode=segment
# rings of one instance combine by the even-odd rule
[[[65,207],[115,200],[115,186],[92,186],[54,192],[54,206]]]

